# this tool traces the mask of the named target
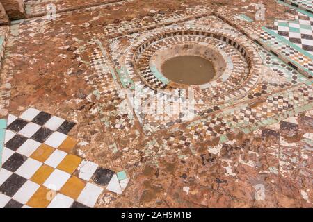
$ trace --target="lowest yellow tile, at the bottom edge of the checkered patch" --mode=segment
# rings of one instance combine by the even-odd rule
[[[52,191],[47,187],[39,187],[26,205],[33,208],[45,208],[49,205],[54,196],[56,196],[56,191]]]

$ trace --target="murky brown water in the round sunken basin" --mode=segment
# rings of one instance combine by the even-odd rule
[[[213,64],[200,56],[177,56],[163,63],[162,74],[175,83],[202,85],[216,73]]]

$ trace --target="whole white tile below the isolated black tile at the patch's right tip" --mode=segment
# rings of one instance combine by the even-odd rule
[[[81,191],[81,194],[77,198],[77,201],[88,207],[94,207],[97,203],[98,197],[100,196],[100,194],[102,194],[102,191],[102,187],[98,187],[91,184],[90,182],[87,182],[86,187],[83,188],[83,191]]]

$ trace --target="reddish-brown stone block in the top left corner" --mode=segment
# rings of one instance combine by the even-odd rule
[[[24,19],[25,8],[23,0],[1,0],[0,2],[11,20]]]

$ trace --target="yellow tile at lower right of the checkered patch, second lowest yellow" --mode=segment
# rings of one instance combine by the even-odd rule
[[[77,178],[76,176],[72,176],[61,188],[60,193],[64,194],[65,196],[70,196],[76,200],[85,186],[86,182]]]

